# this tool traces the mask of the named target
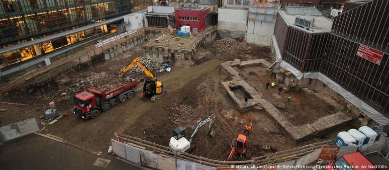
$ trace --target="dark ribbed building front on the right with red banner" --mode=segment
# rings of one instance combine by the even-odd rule
[[[291,26],[297,19],[283,22],[281,11],[275,28],[281,56],[302,72],[323,73],[389,117],[388,7],[389,0],[372,0],[335,17],[323,33]]]

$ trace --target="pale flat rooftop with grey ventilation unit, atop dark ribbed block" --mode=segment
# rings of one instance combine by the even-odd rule
[[[285,10],[279,11],[279,15],[290,27],[310,33],[331,32],[332,21],[324,17],[316,8],[286,7]],[[313,20],[313,26],[307,30],[306,28],[295,25],[297,17],[304,20]]]

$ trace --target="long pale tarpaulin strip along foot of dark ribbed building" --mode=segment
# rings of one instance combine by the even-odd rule
[[[276,60],[281,59],[281,53],[278,49],[278,45],[276,42],[276,39],[273,37],[273,46],[274,46],[274,51],[275,51],[275,58]],[[313,79],[319,79],[323,83],[325,83],[329,88],[337,92],[339,95],[343,96],[344,99],[346,99],[348,102],[351,104],[355,105],[357,108],[359,108],[364,114],[366,114],[370,119],[374,120],[380,125],[388,124],[389,119],[382,115],[380,112],[376,111],[373,109],[371,106],[360,100],[359,98],[355,97],[352,95],[350,92],[348,92],[346,89],[342,88],[337,84],[335,81],[331,80],[324,74],[320,72],[306,72],[302,73],[295,67],[291,66],[285,61],[281,61],[280,66],[290,72],[292,72],[298,79],[303,78],[313,78]]]

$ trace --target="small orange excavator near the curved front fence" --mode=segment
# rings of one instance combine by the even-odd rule
[[[238,138],[234,138],[231,143],[231,151],[227,157],[227,161],[231,161],[234,155],[239,159],[246,158],[247,136],[239,134]]]

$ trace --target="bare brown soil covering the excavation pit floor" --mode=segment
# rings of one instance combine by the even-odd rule
[[[39,118],[43,114],[43,108],[49,102],[55,101],[58,111],[68,116],[53,125],[40,124],[41,128],[45,127],[43,133],[54,134],[88,149],[106,152],[110,145],[110,138],[114,137],[115,132],[168,146],[172,130],[176,126],[186,127],[186,136],[188,136],[200,119],[214,114],[216,117],[213,126],[215,136],[211,137],[207,134],[207,126],[202,127],[193,139],[189,153],[219,160],[226,159],[230,151],[230,142],[239,133],[243,133],[244,125],[248,123],[253,124],[253,131],[248,141],[248,157],[271,153],[271,151],[260,149],[260,146],[265,144],[275,146],[280,151],[307,143],[333,139],[336,134],[333,132],[323,139],[315,138],[305,143],[295,144],[266,116],[264,111],[240,113],[236,109],[221,86],[220,82],[228,80],[229,77],[221,72],[220,64],[234,58],[242,60],[264,58],[273,62],[268,47],[253,44],[246,44],[239,53],[220,52],[210,45],[209,48],[198,50],[194,66],[173,66],[169,73],[158,73],[158,79],[162,81],[168,93],[156,103],[140,100],[138,93],[133,99],[117,104],[96,119],[82,120],[72,113],[74,94],[61,95],[61,93],[77,83],[80,78],[98,76],[96,78],[99,79],[99,75],[104,74],[104,77],[98,80],[97,85],[117,80],[120,68],[134,57],[143,56],[143,54],[144,50],[138,46],[121,57],[95,63],[89,68],[65,72],[46,83],[39,84],[31,92],[14,90],[2,94],[0,101],[23,103],[28,106],[0,104],[0,108],[8,109],[6,112],[0,112],[0,125],[31,117],[37,118],[39,124],[40,122],[48,123],[47,120]],[[286,101],[286,94],[281,93],[278,99],[273,96],[276,90],[265,90],[266,81],[272,80],[272,77],[266,75],[263,68],[245,68],[240,71],[246,81],[262,93],[266,100],[272,103]],[[131,74],[131,77],[136,79],[142,76],[144,76],[143,73]],[[80,88],[80,90],[84,89]],[[139,88],[137,90],[140,91]],[[307,96],[294,93],[291,93],[291,96],[293,97],[292,102],[287,109],[282,111],[289,114],[289,118],[296,124],[302,121],[313,121],[319,116],[328,114],[323,111],[326,106],[315,102],[313,98],[307,100]],[[174,112],[172,108],[179,105],[188,106],[190,109],[185,107],[188,110],[187,113],[182,114],[181,118],[173,118],[172,116],[179,116],[179,114],[172,113]],[[313,109],[322,112],[312,112]],[[309,116],[308,113],[311,115]]]

